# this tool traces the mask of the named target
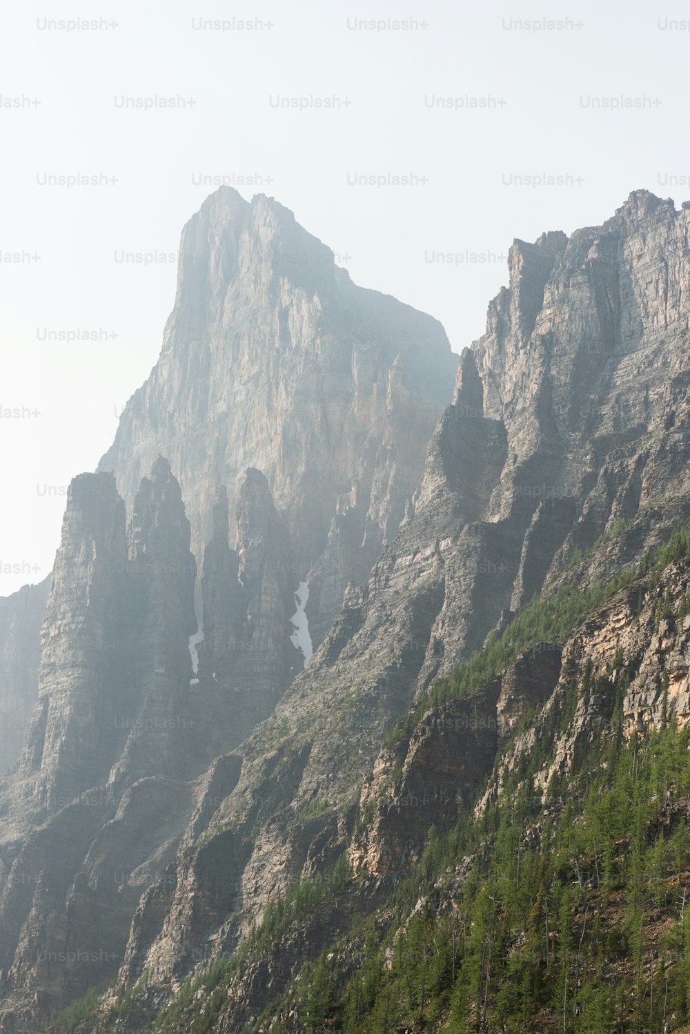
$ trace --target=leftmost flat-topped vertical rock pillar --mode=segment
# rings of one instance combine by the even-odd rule
[[[109,474],[69,486],[42,630],[38,700],[20,765],[49,811],[105,781],[122,688],[125,507]]]

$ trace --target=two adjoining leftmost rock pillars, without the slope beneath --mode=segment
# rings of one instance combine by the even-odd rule
[[[108,781],[193,767],[184,736],[196,567],[180,486],[162,457],[127,528],[108,474],[69,488],[41,634],[36,701],[17,778],[34,820]],[[189,758],[189,760],[187,760]],[[26,820],[25,820],[26,821]]]

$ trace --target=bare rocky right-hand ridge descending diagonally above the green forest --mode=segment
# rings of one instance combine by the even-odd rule
[[[491,303],[484,337],[463,353],[453,403],[398,535],[243,746],[238,785],[198,847],[161,875],[164,917],[158,901],[155,917],[153,898],[144,903],[129,949],[136,963],[128,961],[123,979],[132,984],[146,972],[150,986],[170,986],[194,952],[232,951],[273,895],[300,875],[326,873],[348,844],[355,868],[385,858],[364,876],[405,875],[418,864],[431,807],[414,838],[394,815],[385,823],[393,845],[351,842],[358,810],[376,804],[380,776],[406,763],[401,749],[393,760],[389,747],[381,753],[396,719],[428,699],[492,630],[509,627],[535,592],[548,597],[562,579],[613,577],[690,512],[689,220],[687,209],[639,191],[601,227],[512,245],[509,287]],[[622,524],[625,534],[614,537]],[[579,559],[604,539],[605,549]],[[538,701],[559,669],[556,651],[535,658],[548,676],[541,671],[538,689],[511,693]],[[529,687],[534,663],[523,660],[508,685]],[[492,706],[514,708],[518,722],[522,705],[501,692],[487,688]],[[495,711],[484,721],[496,733]],[[415,751],[424,746],[421,757],[434,759],[433,737],[417,735]],[[453,798],[457,781],[469,781],[465,807],[498,743],[485,735],[472,747],[481,763],[468,762],[468,774],[454,762],[444,777]],[[378,821],[376,809],[369,818]],[[214,868],[208,884],[207,859],[228,850],[225,874],[218,882]],[[203,901],[208,915],[216,895],[212,921],[193,922],[189,900]],[[180,927],[184,940],[171,936]]]

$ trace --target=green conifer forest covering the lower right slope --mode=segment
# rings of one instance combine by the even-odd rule
[[[371,919],[357,932],[352,975],[337,977],[350,937],[244,1034],[681,1029],[690,1020],[689,743],[672,723],[641,742],[611,731],[582,759],[563,807],[561,788],[542,804],[528,778],[479,821],[444,838],[430,830],[388,930],[377,936]]]

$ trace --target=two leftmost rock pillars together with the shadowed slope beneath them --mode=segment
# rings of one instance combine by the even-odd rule
[[[128,529],[112,475],[72,481],[38,699],[18,771],[0,784],[0,969],[25,1007],[52,1011],[115,975],[151,873],[198,808],[183,782],[205,760],[188,692],[195,574],[162,457]]]

